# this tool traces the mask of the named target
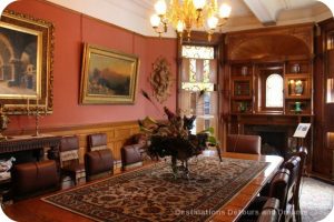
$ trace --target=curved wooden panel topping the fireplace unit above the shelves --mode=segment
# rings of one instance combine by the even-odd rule
[[[313,24],[233,32],[226,36],[226,42],[229,61],[312,58]]]

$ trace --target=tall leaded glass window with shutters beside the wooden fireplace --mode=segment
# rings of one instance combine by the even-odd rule
[[[217,60],[213,47],[183,46],[183,63],[178,107],[185,114],[195,114],[191,133],[209,127],[217,129]],[[205,91],[199,97],[199,92]],[[215,130],[217,133],[217,130]]]

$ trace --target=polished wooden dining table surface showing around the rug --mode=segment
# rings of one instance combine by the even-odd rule
[[[205,153],[212,155],[210,151]],[[244,154],[244,153],[222,153],[223,158],[240,159],[240,160],[255,160],[261,162],[267,162],[268,167],[257,174],[249,183],[247,183],[239,192],[235,195],[218,211],[215,212],[210,221],[236,221],[248,206],[252,200],[259,193],[262,188],[268,183],[268,181],[275,175],[279,165],[283,162],[283,158],[277,155],[256,155],[256,154]],[[116,170],[115,174],[124,173]],[[87,185],[87,184],[86,184]],[[50,193],[48,193],[50,195]],[[91,219],[82,215],[72,213],[70,211],[57,208],[52,204],[46,203],[40,200],[41,196],[19,201],[11,205],[3,206],[4,213],[14,221],[20,222],[65,222],[76,221],[86,222]]]

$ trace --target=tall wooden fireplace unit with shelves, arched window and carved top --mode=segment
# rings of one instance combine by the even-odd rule
[[[228,83],[224,85],[228,90],[224,89],[223,103],[229,104],[229,112],[222,115],[226,133],[261,135],[262,153],[272,150],[287,158],[298,145],[307,147],[308,172],[313,168],[315,125],[313,40],[312,23],[227,33]],[[274,88],[281,91],[278,97],[271,91]],[[293,137],[301,122],[312,124],[303,141]]]

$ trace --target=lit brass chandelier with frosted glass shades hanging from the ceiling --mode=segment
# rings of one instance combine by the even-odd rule
[[[216,28],[226,23],[232,8],[227,3],[218,8],[217,0],[170,0],[169,7],[165,0],[158,0],[155,10],[150,23],[159,37],[167,32],[170,23],[180,38],[186,31],[188,39],[194,28],[204,28],[210,41]]]

